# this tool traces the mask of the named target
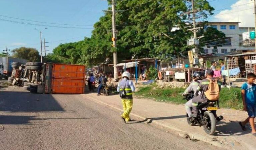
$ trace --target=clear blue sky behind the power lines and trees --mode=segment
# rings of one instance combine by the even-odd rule
[[[208,0],[212,1],[212,0]],[[250,0],[215,0],[210,4],[216,9],[223,9],[230,7],[238,1]],[[97,22],[100,16],[104,13],[108,5],[107,1],[103,0],[0,0],[0,15],[60,24],[76,24],[88,26],[76,26],[83,28],[92,28],[93,24]],[[230,8],[229,10],[232,10]],[[215,14],[221,11],[215,12]],[[241,12],[242,13],[242,12]],[[0,50],[14,49],[21,46],[33,47],[40,50],[40,33],[42,31],[42,38],[46,39],[46,49],[52,51],[60,43],[74,42],[82,40],[83,37],[90,37],[93,29],[67,29],[45,27],[38,25],[18,24],[9,21],[19,21],[34,24],[44,24],[29,22],[24,20],[17,20],[0,16]],[[4,19],[4,20],[1,20]],[[218,21],[219,18],[210,17],[209,21]],[[45,24],[44,24],[45,25]],[[63,26],[54,25],[53,26]],[[37,30],[34,30],[37,28]]]

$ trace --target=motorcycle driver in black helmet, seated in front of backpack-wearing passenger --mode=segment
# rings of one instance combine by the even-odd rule
[[[195,97],[198,96],[201,92],[197,91],[197,87],[198,87],[200,81],[203,80],[203,79],[204,79],[204,73],[203,72],[201,72],[201,71],[194,72],[193,81],[186,88],[186,90],[184,91],[184,93],[182,95],[187,95],[191,92],[194,92],[194,96]],[[187,103],[185,104],[185,109],[186,109],[186,112],[187,112],[189,117],[192,114],[191,108],[192,108],[192,98],[189,101],[187,101]]]

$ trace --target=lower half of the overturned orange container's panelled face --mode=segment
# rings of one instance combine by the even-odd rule
[[[54,94],[83,94],[84,80],[53,79],[52,93]]]

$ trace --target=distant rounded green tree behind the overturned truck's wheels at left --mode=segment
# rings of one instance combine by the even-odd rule
[[[33,62],[40,58],[39,52],[35,48],[20,47],[12,50],[12,53],[15,58],[23,58]]]

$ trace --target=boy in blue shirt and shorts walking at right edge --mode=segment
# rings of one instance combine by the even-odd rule
[[[256,84],[254,84],[256,75],[254,73],[247,74],[247,82],[242,85],[242,99],[244,110],[247,111],[249,117],[245,119],[243,122],[239,122],[242,130],[245,129],[246,123],[250,122],[252,127],[252,135],[256,136],[255,125],[254,125],[254,118],[256,115]]]

